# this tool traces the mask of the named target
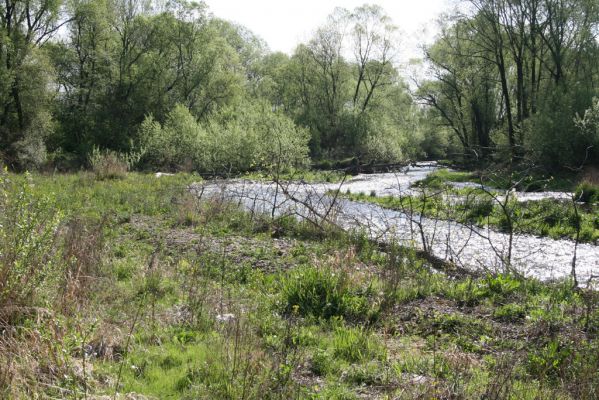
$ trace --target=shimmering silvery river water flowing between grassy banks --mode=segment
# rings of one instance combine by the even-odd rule
[[[572,270],[575,246],[571,240],[554,240],[532,235],[514,235],[488,228],[467,226],[455,221],[409,215],[384,209],[374,204],[337,199],[333,202],[331,190],[352,193],[375,193],[377,196],[414,194],[411,185],[437,168],[435,163],[419,163],[398,173],[358,175],[343,184],[305,184],[292,182],[284,185],[229,180],[192,186],[202,196],[222,196],[237,201],[244,208],[257,213],[295,215],[298,218],[319,221],[332,219],[345,228],[357,228],[375,239],[397,241],[420,249],[426,247],[436,257],[475,270],[503,271],[506,260],[512,268],[528,276],[543,280],[567,276]],[[515,193],[519,201],[542,198],[570,198],[568,193]],[[511,251],[510,251],[511,249]],[[584,284],[599,274],[599,246],[578,244],[576,271]]]

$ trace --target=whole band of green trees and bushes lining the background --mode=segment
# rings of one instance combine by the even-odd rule
[[[310,160],[597,161],[598,1],[473,0],[411,93],[398,29],[336,9],[293,55],[203,3],[0,4],[0,157],[13,169],[245,171]]]

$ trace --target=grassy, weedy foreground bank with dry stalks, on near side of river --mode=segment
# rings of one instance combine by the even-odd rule
[[[597,397],[595,291],[100,176],[1,176],[4,398]]]

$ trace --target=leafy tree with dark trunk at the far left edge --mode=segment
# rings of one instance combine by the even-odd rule
[[[42,46],[65,23],[61,6],[60,0],[0,4],[0,147],[13,166],[19,166],[17,147],[43,144],[39,136],[48,133],[51,70]]]

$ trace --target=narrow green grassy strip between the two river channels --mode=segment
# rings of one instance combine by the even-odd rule
[[[381,197],[376,192],[339,195],[410,214],[491,227],[501,232],[512,231],[553,239],[569,238],[589,243],[599,240],[599,186],[582,182],[575,187],[571,199],[518,201],[517,195],[510,190],[512,185],[507,183],[505,177],[489,179],[489,184],[498,186],[494,188],[482,185],[481,182],[485,181],[473,173],[441,169],[417,182],[414,186],[419,189],[409,195]],[[517,181],[521,182],[517,186],[524,189],[539,187],[539,182],[546,182],[547,186],[551,185],[550,188],[563,188],[563,185],[568,184],[567,180],[560,179],[554,183],[552,179],[537,180],[532,175]],[[455,188],[452,182],[476,185]],[[569,185],[572,186],[572,183]]]

